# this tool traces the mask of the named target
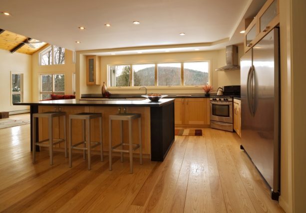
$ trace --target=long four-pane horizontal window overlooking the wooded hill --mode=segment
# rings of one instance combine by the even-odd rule
[[[209,83],[209,70],[210,61],[108,65],[108,84],[198,86]]]

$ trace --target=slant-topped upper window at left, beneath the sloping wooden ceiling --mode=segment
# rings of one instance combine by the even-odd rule
[[[39,53],[40,65],[64,64],[65,48],[50,45]]]

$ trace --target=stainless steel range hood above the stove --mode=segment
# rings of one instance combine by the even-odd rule
[[[216,71],[226,71],[226,70],[234,70],[240,69],[240,65],[238,65],[238,46],[229,45],[225,49],[226,51],[226,65],[220,68],[217,68]]]

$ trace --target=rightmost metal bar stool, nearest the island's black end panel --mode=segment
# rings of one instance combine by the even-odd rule
[[[132,120],[138,118],[139,128],[139,144],[132,143]],[[111,121],[120,120],[120,143],[112,146],[111,141]],[[123,120],[128,121],[129,125],[129,143],[124,143],[122,140],[122,122]],[[129,149],[123,149],[123,145],[128,145]],[[121,146],[121,149],[117,148]],[[123,152],[130,153],[130,173],[133,173],[133,151],[139,148],[140,164],[142,164],[142,146],[141,146],[141,114],[138,113],[118,113],[109,115],[109,170],[112,170],[112,151],[121,153],[121,162],[123,162]]]

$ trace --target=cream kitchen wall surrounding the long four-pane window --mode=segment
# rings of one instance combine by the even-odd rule
[[[90,50],[87,50],[90,51]],[[243,54],[243,46],[239,46],[239,58]],[[86,52],[87,53],[87,52]],[[216,68],[224,66],[225,49],[213,51],[194,51],[194,52],[172,52],[172,53],[156,53],[156,54],[137,54],[137,55],[111,55],[101,56],[101,85],[86,85],[86,69],[85,69],[85,56],[82,52],[79,54],[79,64],[77,65],[76,72],[79,79],[80,94],[83,93],[100,93],[101,85],[105,81],[108,90],[112,93],[139,93],[138,87],[136,88],[109,88],[107,85],[107,65],[108,64],[131,64],[131,63],[157,63],[157,62],[173,62],[173,61],[211,61],[211,84],[215,89],[224,85],[240,85],[240,70],[230,71],[215,71]],[[203,93],[201,86],[198,87],[162,87],[153,88],[148,87],[148,92],[159,93]]]

